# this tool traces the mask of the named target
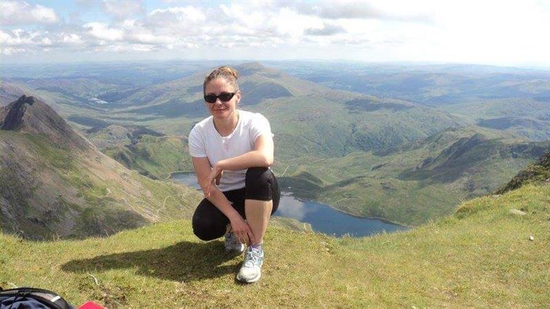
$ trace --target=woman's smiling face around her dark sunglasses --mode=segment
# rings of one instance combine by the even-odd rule
[[[208,84],[206,84],[206,95],[220,95],[220,93],[224,92],[235,92],[233,86],[229,84],[225,80],[225,78],[214,78],[213,80],[210,80]],[[231,98],[231,100],[229,100],[228,102],[221,102],[221,100],[217,98],[215,103],[205,102],[205,104],[208,108],[208,111],[212,116],[214,116],[214,118],[224,119],[233,115],[236,105],[239,104],[239,101],[241,101],[241,91],[236,91],[235,95],[233,95],[233,98]]]

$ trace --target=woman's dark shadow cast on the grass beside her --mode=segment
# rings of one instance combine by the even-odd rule
[[[179,242],[162,249],[100,255],[91,259],[72,260],[61,269],[72,273],[136,268],[135,274],[177,282],[192,282],[236,273],[241,261],[222,265],[234,254],[225,253],[219,241]]]

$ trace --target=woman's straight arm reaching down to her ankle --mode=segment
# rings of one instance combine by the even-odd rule
[[[254,244],[254,234],[243,217],[230,204],[225,195],[212,183],[208,183],[210,174],[210,161],[208,158],[191,157],[197,181],[204,193],[204,197],[210,201],[219,211],[228,217],[234,234],[247,244]],[[219,181],[219,179],[218,179]]]

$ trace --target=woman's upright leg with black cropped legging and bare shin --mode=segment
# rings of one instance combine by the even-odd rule
[[[246,220],[255,244],[263,242],[270,216],[277,210],[280,192],[273,172],[268,168],[249,168],[246,172]]]

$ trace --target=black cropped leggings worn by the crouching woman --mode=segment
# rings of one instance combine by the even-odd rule
[[[249,168],[246,171],[245,187],[223,192],[233,208],[246,219],[245,200],[273,201],[271,214],[277,210],[281,191],[275,175],[269,168]],[[214,240],[225,234],[228,217],[214,204],[204,198],[193,214],[192,227],[201,240]]]

